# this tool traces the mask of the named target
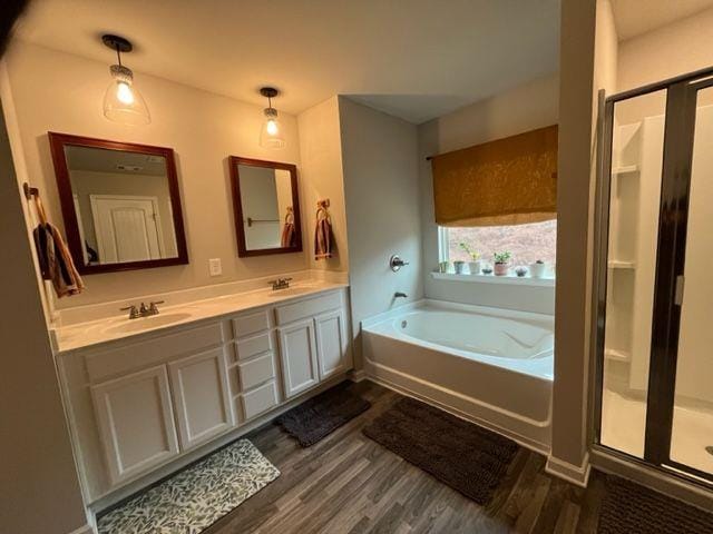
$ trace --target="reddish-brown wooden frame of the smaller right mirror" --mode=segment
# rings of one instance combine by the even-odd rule
[[[293,164],[282,164],[280,161],[265,161],[262,159],[242,158],[229,156],[231,182],[233,187],[233,217],[235,219],[235,234],[237,239],[237,256],[248,258],[253,256],[265,256],[270,254],[291,254],[302,251],[302,218],[300,216],[300,194],[297,191],[297,167]],[[280,169],[290,172],[290,184],[292,186],[292,212],[294,216],[294,227],[296,243],[294,247],[261,248],[248,250],[245,243],[245,225],[243,222],[243,205],[241,201],[241,184],[238,165],[251,167],[264,167],[268,169]],[[281,227],[282,229],[282,227]]]

